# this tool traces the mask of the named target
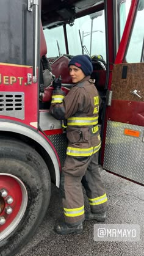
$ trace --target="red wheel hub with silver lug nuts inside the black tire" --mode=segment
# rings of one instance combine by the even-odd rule
[[[19,224],[26,206],[24,183],[14,175],[0,173],[0,241]]]

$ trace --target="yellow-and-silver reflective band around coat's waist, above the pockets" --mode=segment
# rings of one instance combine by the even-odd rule
[[[69,117],[68,125],[97,125],[98,117]]]

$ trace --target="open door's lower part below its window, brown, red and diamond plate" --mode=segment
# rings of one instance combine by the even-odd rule
[[[123,73],[126,71],[126,74]],[[124,77],[123,77],[124,76]],[[113,68],[104,169],[144,184],[144,64]],[[134,91],[137,90],[137,94]]]

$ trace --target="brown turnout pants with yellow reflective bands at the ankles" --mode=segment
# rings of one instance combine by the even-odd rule
[[[67,156],[63,166],[62,191],[65,222],[77,225],[84,221],[84,185],[92,213],[107,210],[107,196],[98,170],[98,152],[88,157]]]

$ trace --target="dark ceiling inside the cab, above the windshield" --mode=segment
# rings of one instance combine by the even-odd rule
[[[41,22],[48,29],[72,26],[75,18],[89,14],[92,9],[101,10],[103,5],[101,0],[41,0]]]

